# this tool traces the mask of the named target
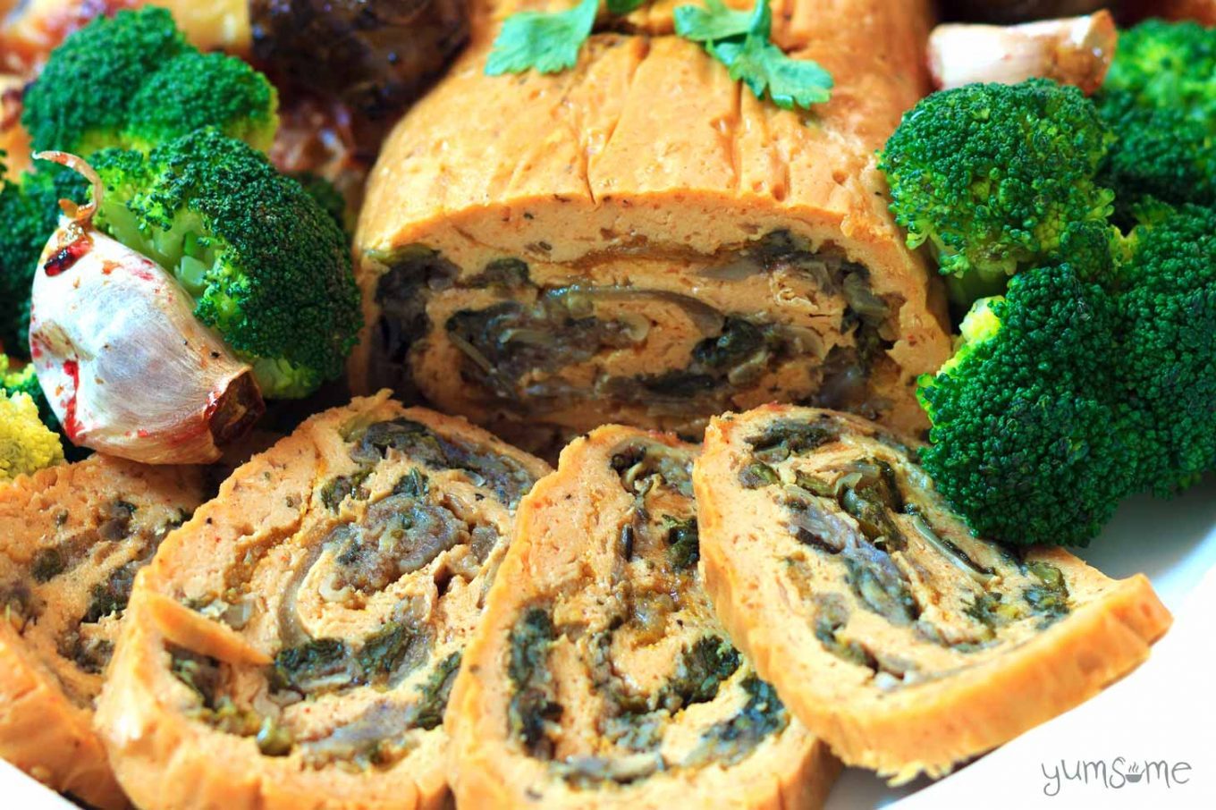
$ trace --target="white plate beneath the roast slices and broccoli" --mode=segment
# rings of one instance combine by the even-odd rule
[[[1081,556],[1110,576],[1144,572],[1175,614],[1175,626],[1153,657],[1085,705],[1055,718],[936,783],[888,788],[873,774],[850,769],[827,810],[889,806],[899,810],[968,808],[1216,808],[1216,479],[1173,500],[1136,497]],[[1122,758],[1122,764],[1115,764]],[[1094,775],[1088,783],[1052,778]],[[1178,780],[1166,784],[1158,766],[1147,781],[1115,776],[1133,761],[1167,763]],[[1107,782],[1097,777],[1098,763]],[[1187,767],[1182,767],[1184,763]],[[1048,793],[1055,786],[1054,795]],[[0,808],[72,810],[73,805],[0,760]]]

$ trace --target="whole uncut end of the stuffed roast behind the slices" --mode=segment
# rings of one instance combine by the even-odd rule
[[[874,152],[928,88],[928,4],[775,11],[776,41],[834,77],[810,112],[671,35],[674,5],[548,75],[485,75],[497,26],[479,26],[372,173],[356,389],[519,441],[606,422],[699,438],[773,400],[927,426],[913,382],[950,354],[942,298]]]

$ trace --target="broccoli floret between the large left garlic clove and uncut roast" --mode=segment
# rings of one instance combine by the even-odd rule
[[[97,226],[181,282],[264,396],[304,396],[342,373],[362,324],[349,246],[299,182],[214,129],[146,157],[107,150],[94,167]]]

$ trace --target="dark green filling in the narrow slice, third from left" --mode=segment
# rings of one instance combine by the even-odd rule
[[[629,664],[614,660],[618,634],[625,634],[620,637],[627,639],[630,646],[655,643],[669,628],[686,626],[672,623],[670,617],[683,601],[698,598],[697,519],[671,514],[666,511],[670,506],[659,511],[658,506],[670,504],[666,499],[672,494],[692,497],[691,463],[692,454],[649,440],[625,441],[609,459],[623,489],[635,499],[621,528],[618,553],[624,563],[638,566],[637,570],[664,572],[659,580],[642,584],[625,576],[617,589],[618,613],[606,618],[606,629],[590,636],[585,626],[556,629],[550,611],[539,607],[525,611],[511,632],[508,731],[530,755],[550,760],[550,771],[570,786],[630,784],[672,769],[732,765],[788,722],[771,687],[750,671],[741,673],[745,666],[742,656],[716,632],[689,639],[670,674],[644,691],[623,674]],[[659,494],[664,495],[662,500],[651,500]],[[652,533],[655,536],[649,536]],[[694,631],[694,626],[686,629]],[[548,656],[558,637],[568,637],[584,651],[591,690],[601,703],[598,731],[614,747],[612,753],[552,761],[554,736],[559,733],[556,724],[563,709]],[[708,727],[693,752],[669,761],[670,754],[663,752],[668,726],[689,707],[719,699],[727,682],[744,691],[747,704]]]

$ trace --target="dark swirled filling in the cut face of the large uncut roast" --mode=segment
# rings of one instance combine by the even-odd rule
[[[866,379],[894,344],[901,302],[876,296],[865,266],[788,231],[685,261],[677,288],[637,277],[597,286],[576,276],[539,282],[518,259],[462,272],[411,246],[376,289],[372,378],[416,392],[410,366],[441,328],[483,404],[520,416],[587,400],[704,416],[766,386],[809,404],[882,411]],[[469,291],[482,292],[469,299]],[[445,297],[468,303],[452,309],[440,305]],[[732,300],[745,305],[733,310]]]

